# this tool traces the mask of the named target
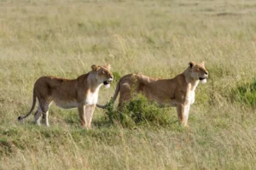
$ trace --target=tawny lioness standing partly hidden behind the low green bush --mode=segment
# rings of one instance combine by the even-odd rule
[[[195,102],[195,88],[199,82],[207,82],[208,71],[204,62],[195,64],[190,61],[183,73],[172,79],[147,77],[141,74],[129,74],[121,77],[113,95],[113,101],[119,95],[119,107],[131,99],[132,93],[142,93],[148,99],[162,106],[177,109],[179,122],[188,125],[189,108]],[[108,104],[107,104],[108,105]],[[97,105],[105,108],[107,105]]]

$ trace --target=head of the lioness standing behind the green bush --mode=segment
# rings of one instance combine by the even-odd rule
[[[190,76],[195,80],[200,80],[202,83],[207,82],[208,71],[205,68],[204,61],[201,64],[195,64],[194,61],[189,62]]]

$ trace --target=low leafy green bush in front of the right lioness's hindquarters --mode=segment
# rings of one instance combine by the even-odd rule
[[[135,95],[129,103],[126,103],[121,109],[116,110],[111,100],[105,109],[107,122],[130,128],[143,125],[169,125],[170,122],[173,122],[169,112],[170,109],[160,108],[154,102],[148,101],[143,94]],[[174,122],[177,122],[177,119]]]

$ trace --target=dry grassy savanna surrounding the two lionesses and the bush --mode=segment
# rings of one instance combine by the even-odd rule
[[[251,0],[1,0],[0,169],[255,169],[255,19]],[[50,127],[17,122],[38,77],[109,63],[105,104],[120,76],[171,78],[190,60],[205,60],[210,77],[196,89],[189,128],[174,109],[160,109],[164,126],[111,125],[96,109],[84,130],[76,109],[55,105]]]

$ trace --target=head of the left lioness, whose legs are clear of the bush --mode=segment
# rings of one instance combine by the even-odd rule
[[[91,65],[91,70],[96,71],[96,80],[104,84],[105,88],[110,87],[110,82],[113,81],[113,74],[110,71],[110,65]]]

